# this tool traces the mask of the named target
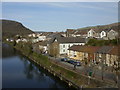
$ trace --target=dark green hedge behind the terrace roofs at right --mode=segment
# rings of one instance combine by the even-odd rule
[[[118,40],[97,40],[97,39],[90,39],[86,45],[91,46],[107,46],[107,45],[118,45]]]

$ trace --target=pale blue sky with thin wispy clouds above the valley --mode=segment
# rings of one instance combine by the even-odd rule
[[[59,32],[118,22],[118,3],[2,2],[2,19],[21,22],[33,31]]]

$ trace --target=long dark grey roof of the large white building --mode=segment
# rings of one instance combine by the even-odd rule
[[[86,43],[86,39],[80,37],[55,37],[49,43],[53,43],[55,40],[58,43]]]

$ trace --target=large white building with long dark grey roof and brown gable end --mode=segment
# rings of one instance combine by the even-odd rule
[[[85,45],[85,38],[56,37],[49,41],[48,52],[52,56],[67,55],[68,48],[72,45]]]

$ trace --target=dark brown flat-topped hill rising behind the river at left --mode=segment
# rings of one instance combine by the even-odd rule
[[[17,34],[27,35],[33,33],[33,31],[23,26],[20,22],[11,20],[0,20],[0,23],[2,23],[3,37],[11,37]]]

